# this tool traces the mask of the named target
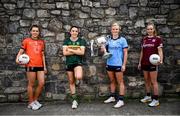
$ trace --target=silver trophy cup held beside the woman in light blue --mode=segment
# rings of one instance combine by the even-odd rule
[[[102,56],[103,59],[108,59],[108,58],[110,58],[112,56],[111,53],[107,52],[106,47],[105,47],[106,46],[106,42],[107,42],[107,38],[108,37],[106,37],[106,36],[100,36],[100,37],[97,37],[97,39],[96,39],[98,45],[101,46],[101,48],[104,51],[104,54]]]

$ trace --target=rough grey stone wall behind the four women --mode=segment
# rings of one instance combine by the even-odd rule
[[[0,1],[0,102],[26,101],[27,79],[15,56],[32,24],[42,26],[46,41],[48,75],[42,100],[66,100],[69,95],[62,57],[62,43],[71,25],[81,28],[87,41],[84,79],[78,89],[81,98],[108,95],[109,80],[98,48],[90,55],[90,40],[109,34],[117,20],[129,43],[126,96],[144,95],[144,81],[137,70],[140,40],[147,22],[157,25],[164,42],[164,64],[159,67],[160,95],[180,93],[180,1],[179,0],[1,0]]]

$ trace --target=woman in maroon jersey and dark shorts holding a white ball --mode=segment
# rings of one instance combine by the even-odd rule
[[[141,53],[139,59],[138,68],[143,70],[146,96],[140,101],[143,103],[149,103],[149,106],[158,106],[158,65],[163,63],[163,50],[162,40],[157,36],[157,31],[153,23],[149,23],[146,27],[147,36],[142,39],[141,42]],[[160,62],[157,65],[153,65],[149,62],[151,54],[158,54],[160,56]],[[153,91],[151,97],[150,92]]]

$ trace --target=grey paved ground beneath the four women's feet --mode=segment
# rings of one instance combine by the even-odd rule
[[[67,102],[44,102],[37,111],[27,108],[26,103],[0,103],[0,115],[180,115],[180,99],[161,100],[158,107],[148,107],[138,100],[126,100],[124,107],[114,109],[114,103],[102,101],[80,103],[78,109],[71,109]]]

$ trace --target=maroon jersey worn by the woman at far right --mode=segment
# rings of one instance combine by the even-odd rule
[[[141,60],[142,65],[151,65],[149,62],[149,57],[151,54],[158,54],[158,48],[163,47],[162,40],[160,37],[144,37],[141,42],[141,47],[143,49],[143,56]]]

